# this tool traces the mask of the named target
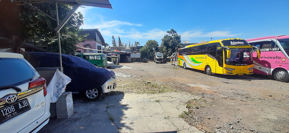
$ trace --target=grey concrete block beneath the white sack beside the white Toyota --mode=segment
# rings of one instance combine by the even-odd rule
[[[55,102],[57,119],[68,119],[73,115],[72,92],[63,93]]]

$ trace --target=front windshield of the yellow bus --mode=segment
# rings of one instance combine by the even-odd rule
[[[227,51],[225,50],[225,55]],[[227,65],[251,65],[253,64],[252,48],[231,48],[231,57],[225,56]]]

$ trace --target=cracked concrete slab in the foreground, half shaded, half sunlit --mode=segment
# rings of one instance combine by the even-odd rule
[[[70,119],[50,119],[39,132],[203,133],[179,115],[196,96],[180,93],[109,95],[95,102],[73,98]]]

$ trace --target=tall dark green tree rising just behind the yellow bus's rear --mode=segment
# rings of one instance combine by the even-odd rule
[[[169,35],[165,35],[162,38],[162,43],[160,46],[160,52],[164,53],[164,58],[172,55],[173,53],[177,52],[179,48],[182,48],[181,45],[181,36],[177,34],[177,31],[171,29],[166,31]]]

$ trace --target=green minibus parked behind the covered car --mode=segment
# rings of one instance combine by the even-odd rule
[[[106,55],[103,53],[81,53],[75,55],[81,57],[97,67],[105,67],[108,65]]]

